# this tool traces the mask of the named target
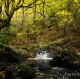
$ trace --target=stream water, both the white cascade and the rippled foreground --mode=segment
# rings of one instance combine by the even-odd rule
[[[42,51],[41,53],[36,53],[35,58],[29,58],[30,61],[36,61],[38,64],[40,62],[49,62],[52,60],[49,53]],[[80,72],[76,70],[69,70],[60,67],[52,67],[50,70],[40,71],[39,67],[34,67],[35,79],[80,79]]]

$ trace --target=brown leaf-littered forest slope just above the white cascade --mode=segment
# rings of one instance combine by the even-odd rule
[[[61,52],[64,49],[69,49],[74,53],[80,53],[80,31],[72,30],[64,32],[58,29],[40,29],[40,33],[34,34],[28,39],[28,46],[12,46],[18,52],[27,53],[34,57],[35,52],[39,49],[55,49]],[[35,38],[34,38],[35,37]],[[11,46],[11,45],[10,45]],[[30,54],[31,53],[31,54]]]

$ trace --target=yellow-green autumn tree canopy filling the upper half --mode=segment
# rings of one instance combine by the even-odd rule
[[[32,43],[53,41],[57,31],[60,33],[55,38],[80,31],[80,1],[0,0],[0,30],[4,27],[9,27],[7,35],[16,34],[16,39],[24,43],[25,37]]]

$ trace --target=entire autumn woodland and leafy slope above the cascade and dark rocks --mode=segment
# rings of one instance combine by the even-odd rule
[[[5,46],[29,57],[67,49],[80,59],[80,0],[0,0],[0,53]]]

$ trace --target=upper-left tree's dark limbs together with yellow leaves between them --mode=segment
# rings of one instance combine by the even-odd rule
[[[0,30],[10,26],[10,21],[15,11],[22,7],[29,8],[35,2],[23,6],[24,0],[0,0]]]

